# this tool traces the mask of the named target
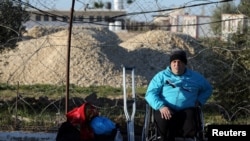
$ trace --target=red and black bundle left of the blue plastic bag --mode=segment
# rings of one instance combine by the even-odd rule
[[[81,139],[84,141],[94,139],[94,132],[90,127],[90,121],[95,116],[98,116],[98,111],[90,103],[84,103],[66,114],[67,121],[75,127],[80,127]]]

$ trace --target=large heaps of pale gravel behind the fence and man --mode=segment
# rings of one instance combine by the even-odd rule
[[[204,46],[191,36],[152,30],[121,40],[121,34],[106,28],[73,28],[70,83],[121,87],[124,65],[135,67],[137,86],[146,86],[156,72],[169,64],[169,53],[175,48],[186,50],[191,67],[204,72],[204,66],[199,67],[203,65],[201,58],[195,57]],[[128,37],[129,33],[124,34]],[[0,83],[65,84],[67,41],[65,29],[19,42],[15,50],[0,56]]]

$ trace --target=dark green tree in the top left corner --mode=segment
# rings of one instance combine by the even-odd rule
[[[22,23],[28,19],[28,13],[20,1],[3,0],[0,3],[0,49],[13,47],[24,29]]]

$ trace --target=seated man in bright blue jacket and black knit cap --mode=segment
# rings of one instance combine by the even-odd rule
[[[154,109],[161,141],[174,141],[177,134],[194,135],[195,107],[204,105],[212,94],[210,83],[186,65],[185,51],[174,51],[170,66],[158,72],[147,88],[145,99]]]

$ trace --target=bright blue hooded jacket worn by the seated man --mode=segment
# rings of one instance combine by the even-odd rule
[[[145,100],[154,109],[167,106],[172,110],[204,105],[212,94],[212,86],[198,72],[186,68],[182,75],[175,75],[168,66],[150,81]]]

